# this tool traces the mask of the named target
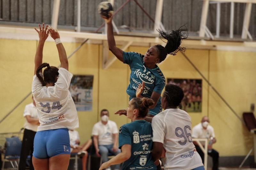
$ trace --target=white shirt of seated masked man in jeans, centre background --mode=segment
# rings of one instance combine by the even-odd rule
[[[99,145],[114,144],[113,134],[117,134],[118,129],[115,122],[108,120],[104,125],[101,121],[94,124],[92,135],[98,136]]]

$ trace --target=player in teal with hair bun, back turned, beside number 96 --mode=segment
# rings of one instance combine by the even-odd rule
[[[124,162],[122,170],[157,169],[151,156],[153,131],[151,124],[145,121],[148,107],[152,105],[154,105],[154,101],[146,97],[133,98],[129,101],[127,118],[132,122],[119,129],[119,148],[122,152],[103,163],[100,170],[122,162]]]

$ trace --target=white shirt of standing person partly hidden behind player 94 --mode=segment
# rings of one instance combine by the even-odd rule
[[[33,103],[30,103],[30,104],[25,106],[23,117],[25,117],[25,116],[31,116],[32,118],[38,119],[36,106],[34,106]],[[38,127],[38,125],[28,123],[28,121],[26,119],[26,122],[24,123],[24,128],[25,129],[32,130],[32,131],[36,132],[37,127]]]

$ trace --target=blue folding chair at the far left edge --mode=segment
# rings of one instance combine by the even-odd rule
[[[21,151],[21,141],[19,137],[6,137],[5,139],[6,143],[2,169],[4,169],[5,161],[10,161],[12,168],[8,169],[18,170]]]

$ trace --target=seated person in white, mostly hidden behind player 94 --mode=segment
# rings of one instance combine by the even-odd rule
[[[88,157],[88,152],[86,150],[92,145],[92,139],[88,140],[83,145],[79,145],[80,138],[79,138],[78,132],[76,130],[70,129],[68,133],[69,133],[71,153],[77,153],[79,156],[82,157],[82,168],[83,170],[86,170],[87,157]]]

